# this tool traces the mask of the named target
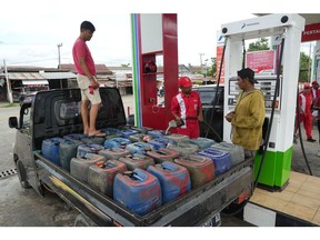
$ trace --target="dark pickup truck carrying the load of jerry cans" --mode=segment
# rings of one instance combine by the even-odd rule
[[[100,88],[100,94],[102,107],[99,109],[97,128],[126,126],[119,90]],[[219,220],[217,216],[226,207],[252,194],[253,159],[243,159],[213,180],[144,216],[132,212],[41,154],[44,139],[82,133],[80,102],[79,89],[42,91],[23,100],[19,118],[9,118],[9,127],[17,129],[13,161],[21,187],[32,187],[40,196],[44,196],[44,189],[50,188],[79,211],[76,226],[187,227],[211,224],[212,219],[214,224]]]

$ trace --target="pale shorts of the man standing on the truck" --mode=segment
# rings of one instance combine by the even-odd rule
[[[88,100],[91,104],[99,104],[101,102],[99,88],[93,90],[93,94],[89,92],[90,79],[87,76],[77,76],[78,86],[81,89],[81,100]]]

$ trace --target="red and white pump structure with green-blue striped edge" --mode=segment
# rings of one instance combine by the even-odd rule
[[[177,14],[131,14],[134,124],[166,130],[178,93]],[[164,101],[157,97],[163,82]],[[162,100],[162,99],[161,99]]]

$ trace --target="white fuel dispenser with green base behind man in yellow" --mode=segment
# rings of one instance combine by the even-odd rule
[[[242,64],[243,41],[263,37],[282,39],[282,56],[278,56],[278,74],[256,74],[258,84],[264,93],[266,117],[270,118],[270,138],[258,183],[271,189],[283,189],[291,170],[292,142],[296,116],[297,84],[301,32],[304,19],[299,14],[268,14],[264,17],[231,22],[221,26],[226,38],[224,56],[224,114],[232,111],[239,93],[237,71]],[[279,72],[281,70],[281,74]],[[278,82],[278,84],[277,84]],[[276,88],[278,90],[276,91]],[[274,92],[277,94],[274,94]],[[276,100],[273,101],[276,97]],[[274,108],[274,110],[272,110]],[[231,124],[223,122],[223,140],[231,141]],[[261,154],[254,158],[254,178],[261,164]]]

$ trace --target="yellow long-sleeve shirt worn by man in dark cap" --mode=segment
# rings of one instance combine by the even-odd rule
[[[262,140],[264,121],[264,97],[261,90],[254,89],[243,96],[240,92],[231,120],[233,127],[232,141],[246,150],[258,150]]]

